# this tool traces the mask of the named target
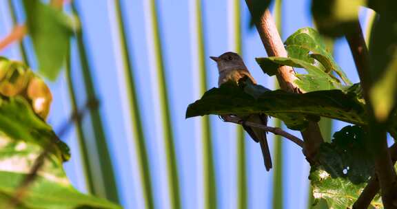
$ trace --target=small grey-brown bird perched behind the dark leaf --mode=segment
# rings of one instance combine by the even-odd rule
[[[247,69],[243,58],[240,55],[234,52],[225,52],[221,56],[210,56],[210,58],[216,62],[218,67],[218,87],[220,87],[223,83],[229,82],[230,80],[238,83],[238,80],[241,78],[247,77],[249,78],[254,85],[256,85],[256,80],[250,74],[250,71]],[[254,113],[249,115],[235,115],[238,118],[241,118],[243,129],[247,131],[247,133],[252,137],[252,140],[255,142],[259,142],[261,144],[261,150],[263,154],[263,162],[265,164],[265,168],[269,171],[272,168],[272,157],[269,151],[269,144],[267,144],[266,131],[263,129],[252,128],[250,126],[246,126],[245,122],[254,122],[257,124],[267,125],[267,115],[263,113]],[[221,118],[223,116],[221,115]]]

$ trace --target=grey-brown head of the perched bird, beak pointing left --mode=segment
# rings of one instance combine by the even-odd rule
[[[218,65],[218,72],[234,69],[247,69],[240,55],[234,52],[226,52],[221,56],[210,56]]]

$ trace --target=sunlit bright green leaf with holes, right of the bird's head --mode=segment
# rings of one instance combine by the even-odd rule
[[[256,58],[256,62],[265,74],[274,76],[280,65],[303,68],[307,74],[297,73],[298,79],[294,83],[305,92],[344,89],[345,85],[352,85],[343,70],[334,61],[332,54],[327,50],[316,30],[302,28],[296,31],[285,41],[285,49],[288,52],[288,58]],[[340,80],[334,76],[334,72]]]

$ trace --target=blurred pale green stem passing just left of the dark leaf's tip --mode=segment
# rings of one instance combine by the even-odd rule
[[[167,177],[169,181],[169,194],[171,195],[171,208],[181,208],[181,198],[179,192],[179,174],[178,163],[176,162],[176,153],[174,145],[174,134],[172,133],[172,122],[170,115],[170,104],[167,93],[167,80],[165,79],[165,67],[163,63],[163,47],[159,32],[159,22],[157,17],[156,0],[148,1],[150,3],[150,21],[154,36],[153,45],[156,58],[157,85],[159,87],[159,100],[161,107],[161,120],[163,122],[163,132],[165,140],[165,153],[167,155]]]

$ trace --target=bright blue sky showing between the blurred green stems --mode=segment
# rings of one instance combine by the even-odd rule
[[[114,22],[114,8],[112,1],[108,0],[77,0],[83,28],[84,39],[88,45],[90,64],[96,91],[101,100],[100,111],[103,115],[105,133],[108,137],[112,162],[116,170],[117,184],[120,188],[121,203],[125,208],[141,208],[143,199],[139,184],[136,157],[134,157],[134,144],[132,143],[132,130],[125,109],[125,90],[123,78],[119,76],[120,54],[117,34],[112,33]],[[190,1],[184,0],[159,0],[159,24],[163,37],[163,50],[167,91],[171,102],[171,115],[176,142],[176,155],[181,180],[181,195],[184,208],[200,208],[202,206],[203,182],[201,175],[201,149],[199,142],[199,129],[196,129],[196,119],[185,120],[187,104],[199,99],[196,93],[197,83],[194,77],[194,42],[192,42],[192,25],[190,19],[192,10]],[[230,45],[227,0],[203,0],[203,22],[205,33],[205,46],[207,56],[218,56],[232,48]],[[136,89],[139,94],[139,104],[145,137],[147,140],[148,154],[150,155],[150,170],[154,186],[156,206],[167,208],[167,183],[165,173],[165,152],[163,135],[159,125],[159,102],[156,92],[156,77],[153,69],[154,57],[152,53],[152,36],[150,35],[150,21],[147,15],[147,0],[123,1],[123,12],[128,33],[128,45],[131,50],[131,60],[134,67]],[[247,67],[258,83],[268,88],[274,86],[273,79],[262,73],[255,63],[254,58],[266,56],[261,40],[255,29],[248,27],[249,12],[245,2],[241,1],[242,27],[243,27],[243,57]],[[365,12],[361,12],[361,19],[365,19]],[[21,22],[23,17],[21,17]],[[12,25],[6,10],[6,0],[0,0],[0,37],[10,32]],[[313,26],[309,15],[308,0],[283,1],[283,40],[299,28]],[[17,45],[8,47],[0,52],[3,56],[19,59]],[[354,83],[358,76],[349,47],[345,39],[336,41],[335,57],[338,64],[345,70],[347,76]],[[72,67],[74,80],[79,94],[78,102],[83,104],[85,92],[78,63],[76,49],[72,50]],[[35,69],[35,63],[32,64]],[[206,60],[208,88],[217,85],[216,65],[210,58]],[[68,88],[64,76],[55,83],[50,83],[54,95],[54,103],[50,113],[49,122],[55,129],[70,114],[68,103]],[[214,160],[216,166],[216,182],[218,188],[218,208],[234,208],[236,206],[236,174],[235,154],[236,139],[235,128],[232,124],[225,124],[217,117],[212,116],[212,136],[214,146]],[[89,121],[85,120],[85,128],[89,129]],[[334,130],[345,126],[343,122],[334,123]],[[299,135],[299,133],[294,133]],[[81,162],[77,148],[76,134],[70,131],[63,138],[72,148],[72,159],[65,163],[74,186],[85,191]],[[272,147],[272,135],[269,134],[269,144]],[[272,175],[265,171],[261,159],[261,150],[258,144],[249,137],[246,139],[247,148],[247,178],[248,201],[250,208],[272,208]],[[92,144],[92,146],[95,146]],[[305,161],[301,149],[290,142],[283,143],[284,156],[284,194],[285,208],[306,208],[307,206],[307,180],[309,165]],[[277,165],[275,165],[277,166]]]

